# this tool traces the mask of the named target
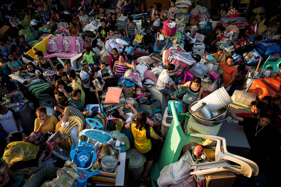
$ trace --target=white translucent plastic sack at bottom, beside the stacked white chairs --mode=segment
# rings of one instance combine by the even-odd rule
[[[166,187],[171,185],[177,185],[181,181],[190,176],[190,164],[196,164],[191,157],[189,151],[178,162],[166,165],[160,172],[160,176],[157,183],[160,187]]]

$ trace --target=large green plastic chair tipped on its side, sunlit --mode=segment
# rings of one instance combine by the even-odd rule
[[[152,187],[158,187],[157,179],[159,178],[160,171],[171,163],[178,161],[178,158],[181,154],[181,150],[184,145],[189,144],[190,142],[201,142],[202,138],[192,137],[190,135],[185,135],[181,129],[179,119],[183,119],[188,122],[189,117],[185,114],[178,114],[175,109],[175,104],[171,103],[173,120],[169,128],[166,140],[164,142],[159,160],[155,163],[150,170],[150,177]]]

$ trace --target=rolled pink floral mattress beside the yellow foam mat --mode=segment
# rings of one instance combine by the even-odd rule
[[[84,43],[79,36],[50,36],[47,50],[51,53],[81,53]]]

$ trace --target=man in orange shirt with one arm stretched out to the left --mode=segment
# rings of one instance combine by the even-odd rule
[[[208,62],[214,65],[220,65],[223,68],[222,86],[225,87],[226,91],[229,91],[238,73],[237,68],[233,65],[233,57],[228,56],[226,58],[226,63],[207,61],[204,64],[207,64]]]

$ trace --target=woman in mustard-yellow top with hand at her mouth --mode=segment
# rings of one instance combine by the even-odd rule
[[[34,122],[34,131],[54,131],[59,122],[55,116],[47,115],[45,107],[39,107],[36,110],[37,119]]]

